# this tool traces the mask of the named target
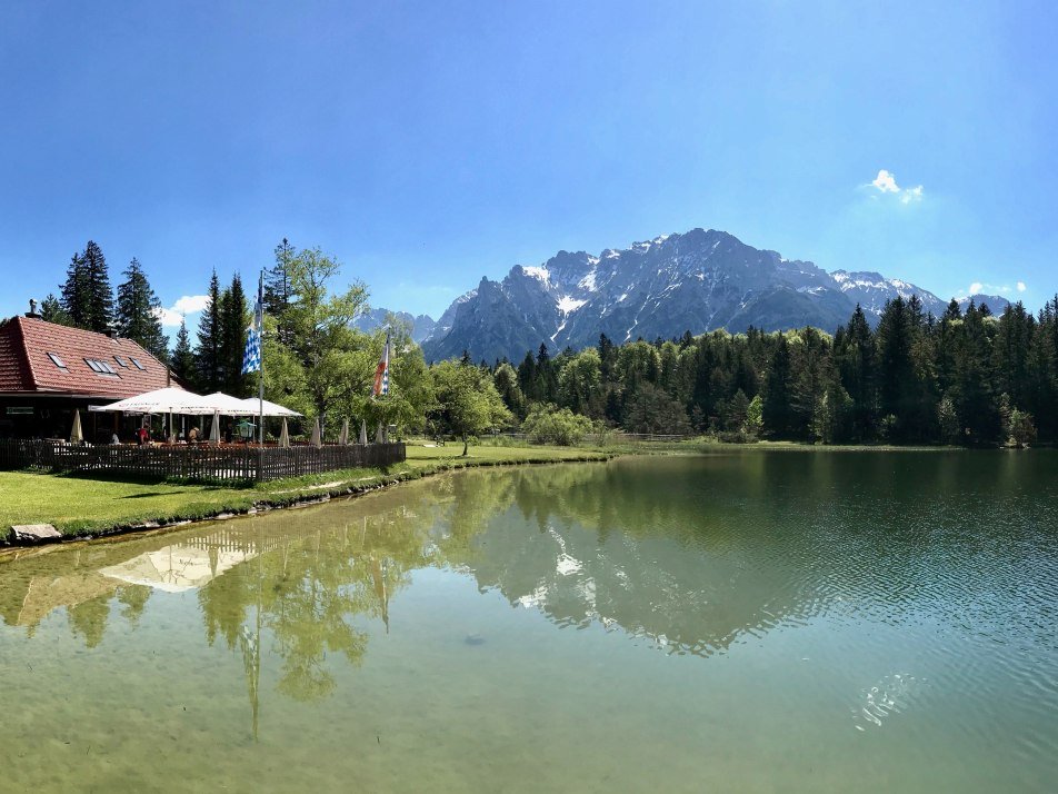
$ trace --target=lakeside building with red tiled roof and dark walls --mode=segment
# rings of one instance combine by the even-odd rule
[[[0,322],[0,438],[68,436],[74,409],[82,411],[88,440],[131,436],[132,424],[119,415],[87,408],[167,386],[180,384],[131,339],[46,322],[32,312]]]

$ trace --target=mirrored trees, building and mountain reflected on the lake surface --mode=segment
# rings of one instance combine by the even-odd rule
[[[402,631],[401,595],[423,569],[470,576],[558,626],[598,624],[701,657],[820,617],[899,624],[927,613],[1052,645],[1052,594],[1031,595],[1058,556],[1055,484],[1040,460],[1004,459],[999,476],[996,458],[967,454],[463,473],[8,560],[0,616],[33,637],[64,611],[94,648],[116,627],[134,633],[166,599],[193,598],[198,642],[241,659],[254,735],[262,668],[293,702],[332,696],[341,667]],[[1028,512],[1026,487],[1037,496]],[[1011,614],[996,593],[1018,583],[1030,597]],[[892,689],[872,694],[865,714],[896,703]]]

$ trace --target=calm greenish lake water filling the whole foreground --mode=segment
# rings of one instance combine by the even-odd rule
[[[477,470],[0,557],[0,791],[1052,792],[1058,454]]]

